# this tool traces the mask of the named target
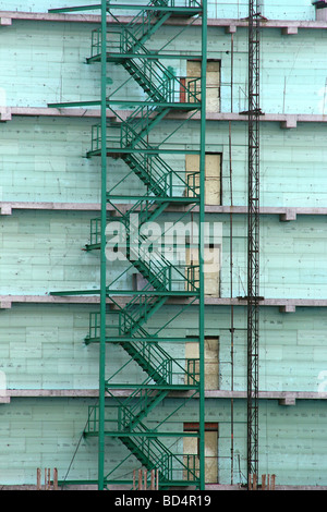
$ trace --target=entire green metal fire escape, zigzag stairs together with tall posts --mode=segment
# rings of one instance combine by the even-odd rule
[[[131,10],[138,10],[129,23],[121,23],[113,14],[114,10],[126,9],[125,4],[101,1],[101,27],[92,34],[92,52],[87,59],[89,64],[101,63],[101,123],[93,126],[90,149],[87,157],[101,158],[101,216],[93,219],[90,223],[90,239],[85,248],[87,252],[99,251],[101,284],[100,309],[92,313],[89,317],[89,332],[85,338],[86,344],[98,343],[100,346],[100,378],[99,404],[89,409],[87,427],[84,435],[98,437],[99,442],[99,481],[100,489],[116,481],[111,477],[113,471],[105,473],[105,438],[119,439],[136,458],[138,463],[147,470],[159,472],[160,488],[175,486],[195,486],[204,488],[204,411],[199,409],[199,434],[185,434],[183,428],[171,432],[161,430],[166,425],[164,418],[156,427],[152,426],[152,414],[162,404],[171,393],[179,391],[183,397],[191,392],[191,397],[199,397],[201,407],[204,405],[204,373],[203,359],[177,359],[169,350],[165,350],[159,342],[162,338],[153,332],[152,319],[167,305],[171,296],[191,297],[199,302],[199,343],[204,346],[203,305],[204,292],[202,278],[195,278],[192,266],[179,266],[154,247],[152,253],[144,248],[146,235],[141,228],[148,222],[159,221],[167,208],[179,203],[183,205],[197,205],[201,220],[204,220],[203,184],[199,173],[185,176],[185,172],[178,172],[171,163],[162,157],[165,151],[161,144],[153,143],[153,134],[171,112],[199,111],[202,119],[205,113],[204,86],[205,78],[177,76],[170,68],[162,63],[165,54],[155,52],[148,47],[160,27],[171,17],[181,16],[192,19],[203,17],[202,49],[199,56],[206,62],[206,0],[153,0],[147,4],[128,5]],[[84,8],[88,9],[88,8]],[[83,8],[81,8],[83,10]],[[56,10],[55,10],[56,11]],[[57,10],[56,12],[69,12]],[[107,24],[107,15],[112,14],[116,20],[114,29]],[[189,57],[189,56],[187,56]],[[187,58],[187,57],[184,57]],[[134,108],[125,119],[108,122],[107,109],[112,109],[110,96],[107,96],[107,64],[120,65],[140,88],[144,100],[131,101],[129,98],[120,101]],[[76,106],[76,103],[74,103]],[[175,121],[178,123],[178,121]],[[181,125],[183,123],[181,122]],[[201,143],[195,151],[201,155],[204,162],[205,127],[201,122]],[[171,154],[183,149],[171,149]],[[107,158],[121,159],[130,173],[140,179],[146,193],[136,193],[132,197],[114,193],[118,184],[108,191]],[[204,163],[202,163],[203,166]],[[204,168],[199,169],[204,172]],[[202,185],[201,185],[202,183]],[[122,200],[129,205],[124,211]],[[108,216],[108,204],[113,207],[113,214]],[[132,217],[137,216],[138,241],[135,246],[132,232]],[[119,291],[113,283],[107,283],[105,268],[105,253],[107,246],[106,225],[111,221],[119,221],[124,233],[122,242],[125,244],[126,263],[135,269],[146,281],[142,290],[131,289],[125,304],[119,304],[114,296]],[[106,225],[105,225],[106,224]],[[135,252],[136,249],[136,252]],[[123,273],[123,272],[122,272]],[[201,276],[201,272],[198,272]],[[114,280],[116,281],[116,280]],[[114,282],[113,281],[113,282]],[[60,294],[61,292],[55,292]],[[108,309],[108,300],[113,308]],[[183,310],[183,308],[181,308]],[[175,315],[178,316],[178,314]],[[107,321],[108,319],[108,321]],[[165,330],[164,330],[165,332]],[[165,334],[164,334],[165,338]],[[165,341],[169,341],[166,339]],[[128,355],[128,363],[119,368],[109,378],[106,371],[106,344],[120,345]],[[169,346],[169,345],[167,345]],[[202,351],[199,351],[201,357]],[[145,375],[142,383],[130,385],[132,392],[125,398],[118,398],[114,390],[121,385],[114,382],[117,374],[124,370],[130,363],[136,364]],[[128,388],[128,385],[124,386]],[[110,398],[109,405],[107,399]],[[184,398],[179,410],[185,403]],[[172,413],[173,414],[173,413]],[[169,446],[168,439],[177,439],[182,451],[182,439],[185,436],[199,438],[202,447],[198,454],[178,453],[174,444]],[[199,458],[199,459],[198,459]],[[199,460],[199,462],[198,462]],[[130,480],[128,480],[130,481]]]

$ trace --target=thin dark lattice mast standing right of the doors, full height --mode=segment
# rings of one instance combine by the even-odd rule
[[[247,488],[258,474],[259,0],[249,1]]]

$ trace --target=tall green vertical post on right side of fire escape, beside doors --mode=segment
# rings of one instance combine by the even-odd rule
[[[205,162],[206,162],[206,74],[207,74],[207,0],[202,13],[201,72],[201,155],[199,155],[199,486],[205,489]]]

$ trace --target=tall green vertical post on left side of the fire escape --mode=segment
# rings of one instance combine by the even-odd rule
[[[105,378],[106,378],[106,222],[107,222],[107,1],[101,0],[101,256],[98,490],[105,488]]]

